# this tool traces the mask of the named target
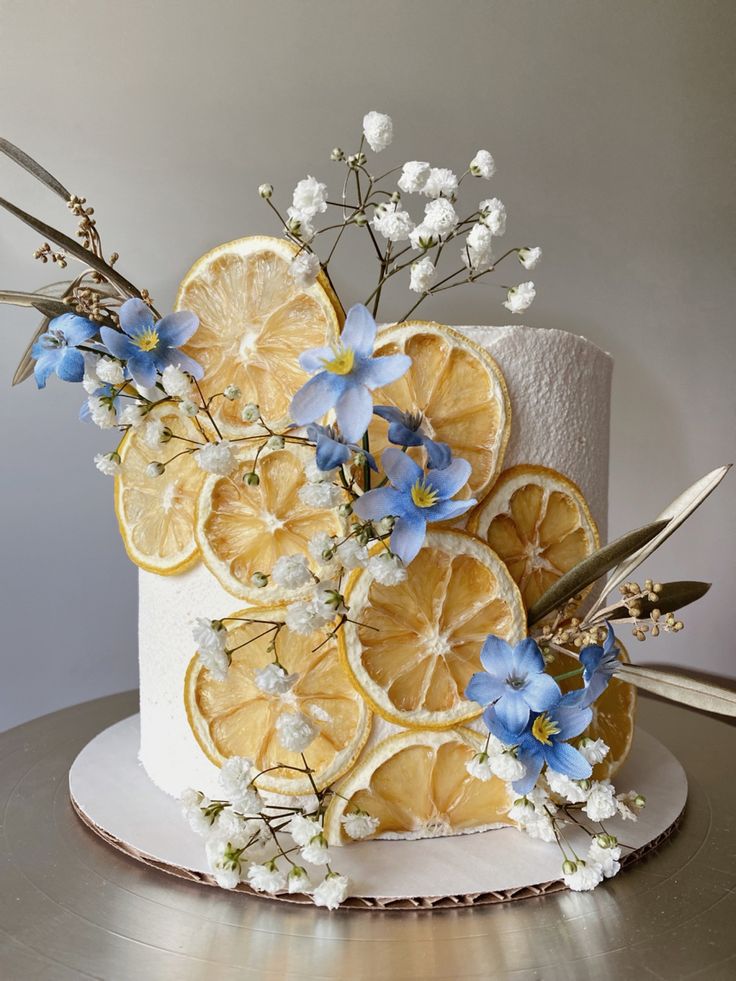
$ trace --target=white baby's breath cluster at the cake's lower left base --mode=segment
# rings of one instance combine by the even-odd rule
[[[288,872],[283,867],[284,852],[293,850],[288,845],[279,842],[276,853],[272,854],[274,836],[269,831],[268,807],[254,786],[257,776],[251,760],[232,757],[223,765],[219,776],[225,800],[212,801],[191,789],[181,795],[185,818],[192,830],[205,839],[205,853],[215,881],[223,889],[235,889],[245,882],[256,892],[270,895],[311,894],[316,906],[336,909],[348,895],[346,876],[328,870],[314,886],[302,865],[289,860]],[[279,816],[282,815],[280,811]],[[365,818],[369,815],[356,812],[355,817],[362,821],[361,825],[353,826],[356,832],[367,827]],[[373,830],[371,824],[365,833]],[[287,833],[299,850],[301,861],[323,868],[330,863],[321,818],[295,813],[287,831],[281,830],[277,839]],[[361,835],[356,833],[355,837]]]

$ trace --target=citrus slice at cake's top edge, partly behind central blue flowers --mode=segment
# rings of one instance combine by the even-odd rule
[[[378,335],[376,354],[408,354],[411,367],[398,381],[373,393],[376,405],[421,416],[423,431],[447,443],[473,472],[460,496],[480,497],[501,469],[511,427],[511,405],[501,369],[483,348],[440,324],[407,321]],[[377,417],[369,429],[371,450],[389,445],[388,427]],[[409,452],[423,462],[423,450]]]

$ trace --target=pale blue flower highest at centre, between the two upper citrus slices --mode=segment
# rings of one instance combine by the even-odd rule
[[[373,414],[371,391],[401,378],[411,364],[405,354],[373,357],[376,322],[360,304],[348,311],[337,349],[316,347],[299,358],[312,374],[291,401],[291,417],[298,426],[321,419],[335,410],[340,431],[348,443],[357,443]]]

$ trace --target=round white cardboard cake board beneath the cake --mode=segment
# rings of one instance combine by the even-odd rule
[[[69,771],[72,804],[96,834],[126,854],[182,878],[215,885],[203,839],[181,814],[179,802],[150,780],[138,762],[140,720],[134,715],[101,732]],[[629,759],[616,775],[619,792],[647,799],[638,821],[615,818],[606,829],[631,848],[622,864],[635,861],[667,838],[687,799],[687,778],[657,739],[637,729]],[[566,828],[584,855],[587,835]],[[579,847],[578,847],[579,846]],[[443,908],[505,902],[564,889],[556,845],[513,828],[424,838],[364,841],[333,848],[333,867],[351,880],[346,906],[364,909]],[[313,869],[315,880],[321,869]],[[242,892],[262,895],[244,884]],[[267,897],[311,902],[305,895]]]

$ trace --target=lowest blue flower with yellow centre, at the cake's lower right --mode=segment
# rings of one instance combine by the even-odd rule
[[[517,746],[517,756],[526,768],[513,787],[518,794],[527,794],[546,763],[557,773],[571,780],[585,780],[593,772],[590,763],[567,742],[588,728],[593,713],[571,698],[570,692],[544,712],[533,713],[522,731],[509,729],[499,719],[494,706],[483,713],[483,720],[493,735],[508,746]]]

